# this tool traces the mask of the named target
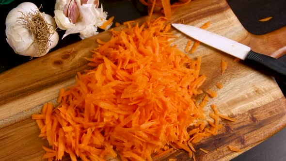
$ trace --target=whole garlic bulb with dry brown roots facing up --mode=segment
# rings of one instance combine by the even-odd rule
[[[5,24],[7,43],[19,55],[44,56],[59,41],[53,17],[39,12],[31,2],[23,2],[12,9]]]

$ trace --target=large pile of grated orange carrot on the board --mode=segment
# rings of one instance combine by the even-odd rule
[[[97,40],[88,58],[94,69],[60,90],[58,106],[46,103],[32,115],[50,145],[43,146],[43,159],[152,161],[177,149],[195,159],[193,144],[216,135],[219,118],[235,121],[215,105],[213,121],[207,119],[204,107],[216,92],[208,90],[200,103],[194,99],[207,78],[200,74],[201,57],[191,59],[172,45],[166,18],[131,23],[111,29],[108,42]]]

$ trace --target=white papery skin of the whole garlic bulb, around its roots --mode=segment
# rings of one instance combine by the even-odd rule
[[[23,17],[23,14],[28,14],[29,12],[37,11],[38,7],[31,2],[23,2],[19,4],[16,8],[12,9],[6,17],[6,41],[14,49],[16,54],[32,57],[44,56],[48,53],[51,48],[54,48],[59,41],[59,34],[56,32],[56,23],[52,16],[41,13],[45,16],[46,22],[52,25],[50,28],[50,44],[46,53],[39,54],[38,47],[34,43],[34,38],[29,29],[25,28],[22,24],[18,22],[19,17]],[[22,13],[23,14],[22,14]]]

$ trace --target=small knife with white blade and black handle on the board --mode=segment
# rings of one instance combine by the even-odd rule
[[[225,53],[244,60],[244,63],[260,72],[273,76],[277,80],[286,82],[286,64],[278,59],[254,52],[246,45],[213,32],[185,24],[173,23],[172,26],[180,32],[183,32],[210,47],[217,48]]]

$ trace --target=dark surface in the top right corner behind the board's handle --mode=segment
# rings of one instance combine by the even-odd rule
[[[286,26],[286,0],[227,0],[243,27],[261,35]],[[260,19],[272,17],[269,21]]]

